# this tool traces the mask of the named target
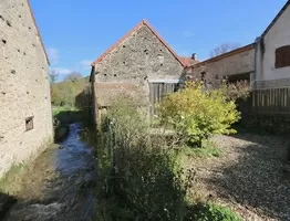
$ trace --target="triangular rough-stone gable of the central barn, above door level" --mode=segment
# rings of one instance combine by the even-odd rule
[[[144,82],[146,78],[178,78],[183,65],[143,25],[96,64],[96,82]]]

